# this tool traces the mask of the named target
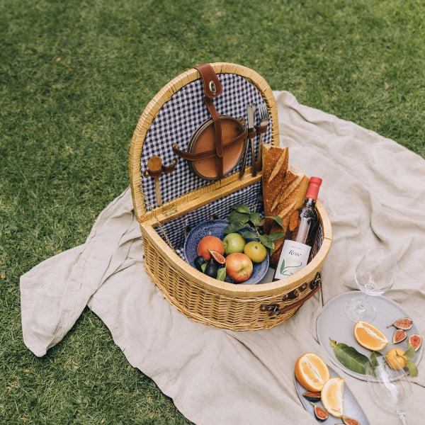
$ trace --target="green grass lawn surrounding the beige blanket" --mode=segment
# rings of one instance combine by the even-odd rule
[[[420,0],[0,0],[0,424],[189,424],[86,309],[44,358],[24,346],[19,277],[81,244],[129,184],[132,132],[203,62],[425,157]]]

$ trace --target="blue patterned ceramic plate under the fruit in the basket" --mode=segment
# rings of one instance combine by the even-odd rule
[[[192,266],[195,267],[193,261],[195,261],[198,256],[196,252],[196,247],[200,239],[209,234],[215,237],[220,237],[220,239],[225,239],[226,234],[224,233],[225,228],[229,225],[227,220],[208,220],[206,222],[200,223],[198,226],[193,227],[191,232],[189,232],[188,237],[186,238],[183,246],[184,256],[186,261]],[[268,270],[268,254],[264,261],[261,263],[254,263],[254,270],[252,271],[251,277],[248,280],[245,280],[241,284],[243,285],[255,285],[266,275]]]

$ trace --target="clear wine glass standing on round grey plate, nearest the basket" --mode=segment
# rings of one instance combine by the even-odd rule
[[[368,249],[356,267],[356,285],[364,295],[353,297],[346,302],[345,312],[353,322],[375,319],[375,306],[367,302],[368,295],[378,296],[386,293],[395,283],[397,258],[389,249],[376,246]]]

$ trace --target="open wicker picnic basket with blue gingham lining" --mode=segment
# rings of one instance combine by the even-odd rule
[[[214,99],[217,112],[246,119],[246,104],[265,103],[270,125],[263,142],[279,145],[276,101],[266,81],[238,64],[220,62],[210,67],[222,85],[222,93]],[[196,322],[232,330],[268,329],[295,314],[319,290],[320,271],[331,246],[331,223],[317,200],[314,258],[284,280],[235,285],[210,278],[186,263],[182,251],[185,229],[212,215],[226,218],[235,203],[262,208],[261,171],[252,175],[249,157],[242,178],[242,164],[236,159],[229,173],[211,181],[196,175],[189,161],[173,150],[187,149],[191,135],[210,118],[203,99],[207,89],[198,69],[183,72],[149,102],[132,137],[130,183],[145,268],[166,300]],[[255,149],[259,149],[258,140]],[[148,164],[152,157],[159,160],[155,170]]]

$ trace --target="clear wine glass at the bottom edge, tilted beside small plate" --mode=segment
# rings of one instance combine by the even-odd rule
[[[393,360],[397,362],[396,357]],[[399,369],[396,370],[388,365],[384,356],[376,357],[366,367],[366,376],[375,403],[386,412],[396,413],[407,425],[406,408],[413,394],[412,382],[402,365],[397,364]]]

